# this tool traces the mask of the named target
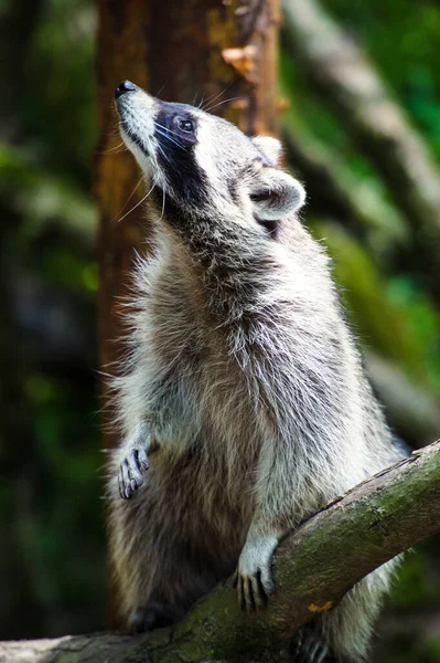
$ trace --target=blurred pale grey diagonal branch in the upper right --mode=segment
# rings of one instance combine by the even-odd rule
[[[374,66],[315,0],[283,0],[285,32],[308,82],[340,115],[412,229],[411,255],[440,301],[440,176]]]

